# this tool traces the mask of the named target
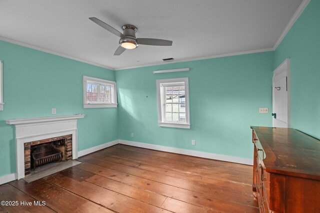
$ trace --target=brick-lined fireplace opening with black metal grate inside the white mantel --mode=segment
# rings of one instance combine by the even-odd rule
[[[37,166],[72,159],[72,135],[33,141],[24,144],[24,175]]]

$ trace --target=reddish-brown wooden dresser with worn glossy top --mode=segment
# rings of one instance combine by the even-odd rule
[[[251,129],[260,213],[320,213],[320,141],[290,128]]]

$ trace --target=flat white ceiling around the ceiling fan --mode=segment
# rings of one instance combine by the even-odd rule
[[[0,39],[111,69],[270,50],[302,0],[0,0]],[[119,38],[88,17],[137,37],[172,40],[113,56]]]

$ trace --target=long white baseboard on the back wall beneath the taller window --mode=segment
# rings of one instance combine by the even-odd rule
[[[190,155],[190,156],[195,156],[195,157],[200,157],[200,158],[208,158],[208,159],[227,161],[227,162],[238,163],[238,164],[253,165],[253,160],[248,159],[248,158],[240,158],[240,157],[234,157],[234,156],[228,156],[228,155],[219,155],[219,154],[214,154],[214,153],[199,152],[199,151],[179,149],[179,148],[174,148],[174,147],[165,147],[165,146],[159,146],[159,145],[154,145],[154,144],[139,143],[139,142],[134,142],[134,141],[124,141],[124,140],[118,140],[118,141],[119,141],[119,144],[140,147],[140,148],[145,148],[145,149],[171,152],[171,153],[182,154],[182,155]]]

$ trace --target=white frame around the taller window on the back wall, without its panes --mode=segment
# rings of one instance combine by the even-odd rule
[[[182,122],[167,122],[165,121],[164,113],[164,90],[163,85],[176,85],[184,83],[185,89],[185,123]],[[183,128],[190,129],[190,112],[189,112],[189,86],[188,78],[171,78],[171,79],[158,79],[156,80],[156,94],[157,94],[157,105],[158,105],[158,125],[160,127],[172,127],[172,128]]]

